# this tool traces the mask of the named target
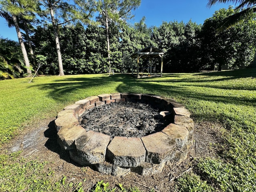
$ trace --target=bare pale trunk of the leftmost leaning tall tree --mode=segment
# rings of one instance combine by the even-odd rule
[[[26,48],[25,48],[25,44],[24,44],[23,39],[22,39],[22,34],[20,32],[20,27],[18,25],[18,21],[17,21],[16,16],[12,15],[12,19],[13,19],[14,26],[16,28],[16,32],[17,32],[17,35],[18,35],[18,40],[19,40],[19,43],[20,43],[20,48],[22,50],[24,62],[25,62],[25,65],[26,65],[27,74],[28,74],[28,77],[31,77],[32,76],[32,71],[30,69],[30,63],[29,63],[29,60],[28,60],[28,54],[27,54],[27,51],[26,51]]]

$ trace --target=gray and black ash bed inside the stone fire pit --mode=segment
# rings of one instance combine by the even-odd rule
[[[86,131],[111,136],[143,137],[161,131],[164,121],[155,106],[144,103],[114,102],[86,111],[79,119]]]

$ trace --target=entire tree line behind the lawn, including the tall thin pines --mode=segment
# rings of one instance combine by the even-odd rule
[[[18,37],[18,30],[24,31],[20,32],[19,43],[0,39],[1,79],[31,75],[38,63],[42,64],[42,74],[104,73],[110,68],[115,72],[130,72],[133,61],[129,56],[149,45],[165,52],[164,72],[221,70],[224,66],[244,68],[254,61],[253,12],[238,25],[217,31],[238,10],[220,9],[202,25],[190,20],[148,27],[145,17],[135,24],[127,22],[132,17],[130,11],[140,5],[140,0],[99,0],[97,4],[82,0],[74,0],[73,4],[62,0],[38,2],[41,4],[29,4],[27,0],[0,1],[0,15],[10,26],[15,26]],[[10,4],[15,6],[9,8]],[[92,20],[93,13],[98,13],[96,20]],[[45,19],[38,21],[39,16]],[[22,43],[24,47],[20,49]],[[24,50],[30,50],[28,62]],[[141,61],[141,71],[147,69],[148,62]],[[158,72],[160,59],[155,58],[153,63]]]

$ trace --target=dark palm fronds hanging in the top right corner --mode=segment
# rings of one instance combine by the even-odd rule
[[[234,26],[246,19],[250,14],[256,12],[256,0],[209,0],[207,6],[211,7],[217,3],[232,3],[239,4],[235,10],[238,10],[235,14],[228,16],[222,24],[219,26],[218,31],[225,30],[231,26]]]

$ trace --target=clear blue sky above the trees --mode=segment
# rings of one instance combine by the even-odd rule
[[[190,19],[197,24],[203,24],[216,10],[228,8],[228,4],[217,4],[207,8],[208,0],[141,0],[140,7],[133,14],[130,23],[139,22],[146,17],[147,26],[160,26],[163,21],[183,21]],[[0,17],[0,36],[18,41],[15,28],[8,28],[6,21]]]

